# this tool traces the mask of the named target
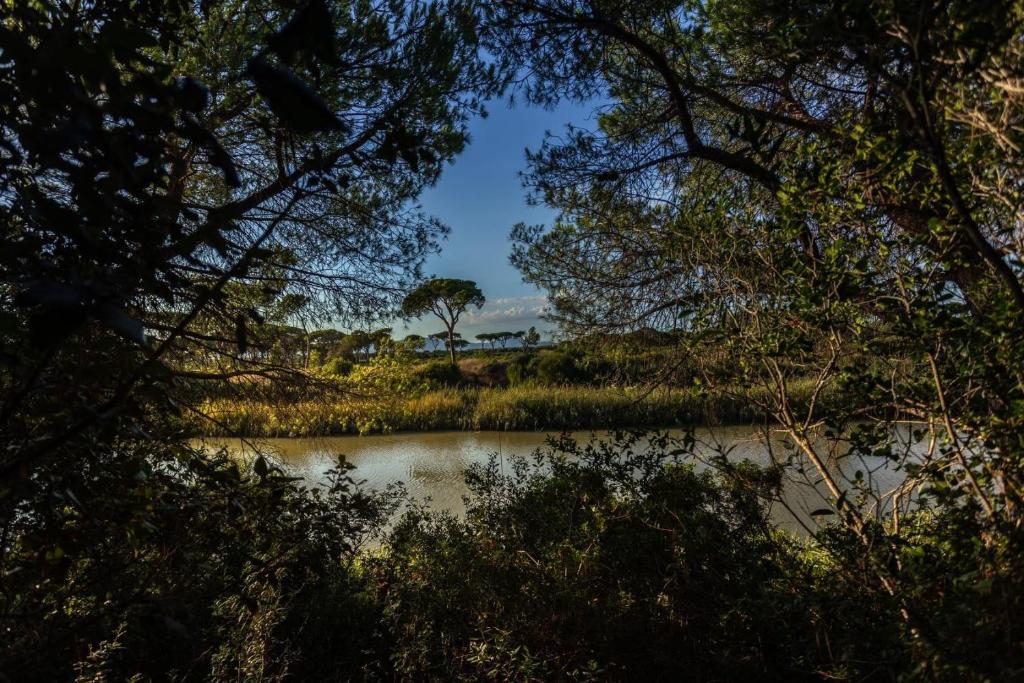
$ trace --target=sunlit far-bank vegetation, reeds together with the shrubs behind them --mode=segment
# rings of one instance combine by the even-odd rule
[[[375,339],[379,350],[362,358],[310,354],[307,369],[295,369],[307,377],[297,388],[257,379],[198,394],[185,424],[197,435],[250,438],[667,429],[761,422],[762,407],[773,400],[764,385],[701,383],[701,373],[673,356],[665,340],[618,351],[565,342],[525,352],[477,349],[453,366],[446,351]],[[644,381],[664,367],[677,371],[669,381]],[[787,380],[796,414],[806,414],[814,386],[811,378]],[[834,401],[831,393],[818,396],[815,415]]]

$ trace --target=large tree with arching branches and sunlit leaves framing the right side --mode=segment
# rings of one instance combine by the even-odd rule
[[[548,293],[550,317],[634,345],[645,329],[683,331],[649,381],[685,369],[780,426],[796,445],[790,473],[823,482],[822,509],[859,544],[841,568],[899,605],[904,637],[928,643],[910,655],[923,670],[933,655],[979,679],[1019,667],[996,654],[1013,649],[1001,634],[1014,616],[986,607],[952,626],[966,596],[925,615],[910,596],[942,591],[942,570],[911,588],[897,550],[906,493],[934,486],[943,538],[971,538],[984,548],[972,561],[1015,581],[1011,563],[985,558],[1015,546],[1006,529],[1024,519],[1006,494],[1024,490],[1019,3],[488,10],[493,48],[526,75],[528,97],[611,99],[594,130],[529,154],[526,184],[560,215],[550,229],[517,226],[512,260]],[[923,428],[914,438],[946,444],[927,466],[893,456],[913,472],[907,488],[831,467],[838,450],[890,453],[907,420]]]

